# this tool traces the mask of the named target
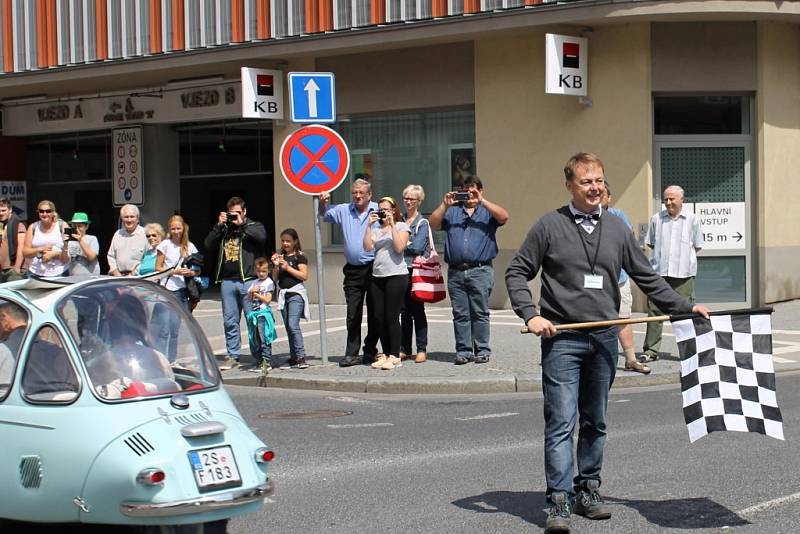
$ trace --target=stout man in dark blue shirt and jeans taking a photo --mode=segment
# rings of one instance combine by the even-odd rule
[[[487,363],[492,355],[489,295],[497,256],[495,233],[508,221],[508,212],[483,196],[480,178],[467,176],[461,191],[447,193],[429,221],[432,229],[447,234],[444,259],[456,338],[453,363]]]

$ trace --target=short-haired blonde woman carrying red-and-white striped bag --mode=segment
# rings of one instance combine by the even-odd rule
[[[411,298],[411,264],[417,256],[428,257],[430,244],[428,243],[428,220],[419,212],[422,201],[425,200],[425,190],[421,185],[409,185],[403,189],[403,205],[406,208],[405,223],[408,225],[409,238],[403,256],[408,267],[408,289],[406,290],[405,307],[400,317],[402,337],[400,340],[400,359],[411,354],[411,334],[417,332],[416,363],[428,359],[428,318],[425,316],[425,303]]]

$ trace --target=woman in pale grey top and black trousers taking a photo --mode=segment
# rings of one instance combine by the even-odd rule
[[[408,244],[408,225],[400,221],[400,210],[392,197],[378,202],[378,212],[369,214],[364,232],[364,250],[375,250],[370,299],[375,325],[385,354],[378,355],[374,369],[391,370],[400,361],[400,311],[408,288],[408,268],[403,252]]]

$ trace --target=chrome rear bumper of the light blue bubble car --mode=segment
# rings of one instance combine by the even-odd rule
[[[264,484],[255,488],[232,490],[185,501],[164,503],[123,502],[119,505],[119,511],[128,517],[169,517],[201,514],[256,502],[259,499],[263,499],[265,495],[272,493],[273,489],[272,481],[267,480]]]

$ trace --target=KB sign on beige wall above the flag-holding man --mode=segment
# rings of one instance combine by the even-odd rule
[[[545,36],[547,76],[545,92],[555,95],[586,96],[589,42],[583,37]]]

